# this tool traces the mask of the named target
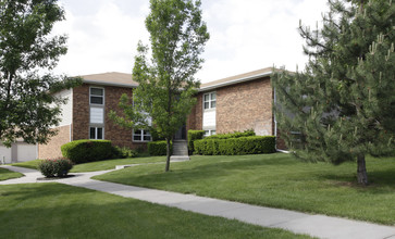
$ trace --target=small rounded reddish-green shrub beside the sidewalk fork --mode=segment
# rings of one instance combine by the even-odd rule
[[[73,162],[64,158],[53,160],[42,160],[38,164],[38,169],[46,177],[64,177],[73,167]]]

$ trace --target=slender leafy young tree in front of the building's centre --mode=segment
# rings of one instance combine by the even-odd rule
[[[123,96],[120,106],[124,115],[110,113],[122,126],[155,130],[165,138],[165,172],[170,169],[171,140],[196,103],[193,96],[199,81],[194,75],[201,67],[199,55],[210,37],[200,4],[199,0],[150,0],[146,27],[151,61],[148,47],[139,42],[133,68],[133,79],[139,84],[134,103]]]

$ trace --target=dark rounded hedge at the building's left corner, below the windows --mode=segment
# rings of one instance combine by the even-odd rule
[[[61,147],[62,155],[73,163],[86,163],[111,159],[113,149],[110,140],[75,140]]]

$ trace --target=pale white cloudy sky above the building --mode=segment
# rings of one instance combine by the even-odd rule
[[[60,0],[66,20],[53,34],[69,36],[54,70],[71,76],[132,73],[138,40],[149,45],[149,0]],[[326,0],[201,0],[210,40],[196,77],[208,83],[271,66],[303,70],[307,56],[297,28],[321,24]]]

